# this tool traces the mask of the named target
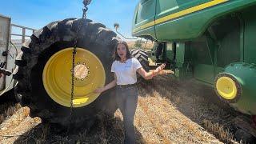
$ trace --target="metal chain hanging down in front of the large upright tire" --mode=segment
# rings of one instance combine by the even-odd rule
[[[86,19],[86,11],[88,10],[88,5],[90,4],[91,0],[84,0],[82,3],[84,4],[84,8],[82,9],[82,19]],[[82,20],[79,21],[78,23],[78,32],[80,31],[82,27]],[[74,65],[75,65],[75,54],[77,53],[77,45],[78,45],[78,35],[77,37],[74,39],[74,48],[73,48],[73,53],[72,53],[72,82],[71,82],[71,97],[70,97],[70,125],[72,122],[72,116],[73,116],[73,108],[74,108]],[[68,130],[70,131],[70,126],[68,127]]]

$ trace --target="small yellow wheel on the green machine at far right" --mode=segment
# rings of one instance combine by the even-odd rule
[[[218,78],[216,82],[218,94],[225,99],[234,99],[238,94],[237,86],[233,79],[228,77]]]

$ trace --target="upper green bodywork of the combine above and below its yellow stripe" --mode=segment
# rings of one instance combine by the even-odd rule
[[[182,2],[182,0],[174,0],[171,2],[159,1],[159,0],[146,1],[146,3],[154,3],[154,4],[155,2],[157,3],[157,5],[155,5],[157,9],[157,15],[155,15],[155,20],[157,20],[158,18],[162,18],[166,15],[174,14],[180,10],[185,10],[187,8],[197,6],[199,4],[210,2],[210,1],[207,1],[207,0],[195,0],[193,2],[191,1]],[[143,5],[144,3],[139,2],[138,7],[142,7],[142,8],[146,7]],[[198,38],[198,36],[203,34],[203,32],[210,25],[210,23],[214,21],[215,18],[218,18],[224,14],[241,10],[242,8],[246,6],[254,5],[255,3],[256,3],[256,0],[233,0],[233,1],[224,2],[217,6],[212,6],[204,10],[198,10],[197,12],[194,12],[191,14],[186,14],[181,18],[174,18],[174,19],[171,19],[170,21],[163,22],[155,26],[150,26],[150,29],[154,29],[155,27],[155,33],[152,33],[152,31],[150,31],[149,33],[148,30],[142,29],[142,30],[133,32],[133,36],[141,37],[142,35],[150,34],[152,38],[158,39],[158,41],[174,41],[174,40],[187,40],[192,38]],[[146,7],[146,10],[148,10],[149,14],[154,14],[155,12],[155,9],[149,10],[147,9],[147,7]],[[140,18],[141,15],[142,14],[140,14],[137,9],[134,15],[133,31],[135,28],[145,25],[148,22],[154,22],[154,20],[152,21],[152,18],[154,17],[150,17],[148,20],[144,20],[143,22],[137,22],[137,19]]]

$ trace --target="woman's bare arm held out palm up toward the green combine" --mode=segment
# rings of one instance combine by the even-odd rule
[[[144,70],[142,67],[139,68],[137,70],[138,74],[142,75],[143,78],[145,79],[151,79],[154,76],[156,76],[157,74],[159,74],[159,72],[161,70],[163,70],[166,67],[166,64],[162,64],[161,66],[158,66],[158,68],[156,68],[155,70],[152,70],[150,72],[146,72],[146,70]]]

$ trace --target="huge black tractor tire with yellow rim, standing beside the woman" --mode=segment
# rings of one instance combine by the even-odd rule
[[[69,18],[36,30],[22,46],[16,64],[16,94],[31,117],[70,126],[72,52],[77,47],[74,69],[74,109],[71,126],[90,126],[98,115],[114,115],[114,89],[94,90],[111,82],[110,72],[116,34],[101,23]],[[77,39],[77,41],[76,41]],[[85,125],[86,124],[86,125]]]

